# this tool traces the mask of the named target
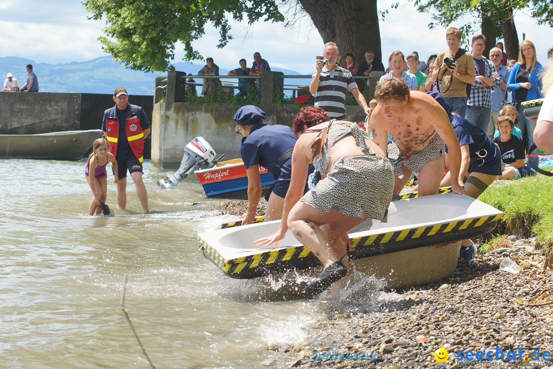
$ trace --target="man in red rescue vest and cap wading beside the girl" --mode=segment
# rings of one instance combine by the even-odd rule
[[[113,92],[116,105],[104,112],[102,131],[106,133],[109,152],[117,160],[117,205],[125,209],[127,205],[127,170],[137,189],[138,199],[145,213],[148,212],[148,193],[142,180],[144,160],[144,138],[150,133],[150,122],[144,110],[129,104],[124,87]]]

